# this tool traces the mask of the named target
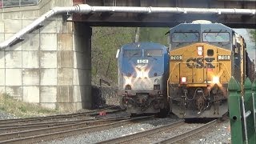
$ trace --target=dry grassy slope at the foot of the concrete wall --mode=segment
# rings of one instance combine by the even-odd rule
[[[38,106],[38,104],[22,102],[14,99],[10,94],[0,94],[0,110],[9,114],[14,114],[19,118],[60,114],[60,111],[58,110],[51,110]]]

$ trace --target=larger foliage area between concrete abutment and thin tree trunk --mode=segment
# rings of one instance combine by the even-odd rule
[[[122,45],[134,41],[135,28],[94,27],[92,37],[92,79],[98,84],[99,78],[117,83],[118,61],[116,51]],[[99,78],[98,78],[98,77]]]

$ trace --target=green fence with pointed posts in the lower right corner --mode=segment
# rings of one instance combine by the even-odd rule
[[[228,86],[231,143],[256,143],[256,80],[246,78],[244,94],[241,84],[232,77]]]

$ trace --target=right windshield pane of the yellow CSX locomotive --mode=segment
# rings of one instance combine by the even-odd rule
[[[202,33],[202,41],[204,42],[230,42],[230,33]]]

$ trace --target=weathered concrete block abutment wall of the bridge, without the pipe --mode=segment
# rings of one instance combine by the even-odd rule
[[[1,9],[0,42],[29,25],[54,6],[72,0],[42,0],[38,6]],[[62,16],[42,22],[24,41],[0,50],[0,92],[52,109],[91,107],[91,29],[62,22]]]

